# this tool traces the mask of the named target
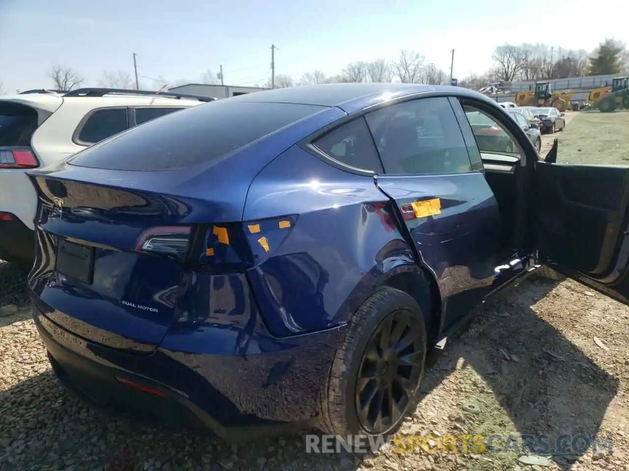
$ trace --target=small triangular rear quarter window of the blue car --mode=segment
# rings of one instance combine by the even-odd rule
[[[313,146],[353,168],[382,172],[382,165],[363,117],[353,119],[313,142]]]

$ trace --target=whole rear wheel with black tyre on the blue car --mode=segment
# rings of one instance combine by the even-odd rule
[[[404,323],[406,327],[402,327]],[[384,344],[383,333],[397,335],[400,329],[402,335],[394,347],[391,335],[386,337],[388,354],[399,350],[396,359],[391,356],[391,363],[387,364],[387,354],[379,353],[376,345]],[[323,433],[342,438],[350,447],[357,445],[352,443],[355,436],[377,440],[379,436],[387,438],[394,434],[406,414],[417,406],[425,368],[426,338],[425,313],[412,296],[388,286],[371,295],[350,318],[345,340],[331,365],[321,400],[319,428]],[[412,342],[401,349],[403,340]],[[372,399],[367,400],[369,396]],[[382,412],[377,413],[385,402],[384,396],[386,403],[401,399],[397,411],[388,408],[386,417]],[[377,398],[380,398],[379,407]],[[362,407],[364,403],[370,405]],[[360,414],[361,410],[367,413]],[[381,418],[380,423],[377,417]],[[362,440],[360,445],[365,443],[369,442]]]

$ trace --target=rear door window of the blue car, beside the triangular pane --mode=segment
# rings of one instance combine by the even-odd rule
[[[459,123],[445,97],[387,106],[365,118],[386,173],[425,175],[472,170]]]

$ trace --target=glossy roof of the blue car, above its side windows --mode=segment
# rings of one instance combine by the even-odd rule
[[[482,99],[485,102],[493,102],[485,95],[474,90],[464,89],[463,87],[394,84],[391,82],[304,85],[238,95],[237,97],[231,97],[230,100],[234,102],[277,102],[327,107],[335,106],[351,113],[393,98],[430,92],[448,92],[448,95],[466,95],[475,99]]]

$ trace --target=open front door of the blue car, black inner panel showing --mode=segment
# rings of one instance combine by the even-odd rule
[[[539,262],[629,305],[629,166],[548,157],[535,171]]]

